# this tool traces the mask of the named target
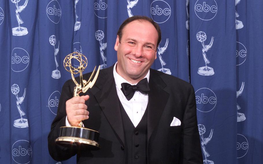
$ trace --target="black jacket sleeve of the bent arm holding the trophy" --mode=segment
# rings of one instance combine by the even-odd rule
[[[58,138],[59,128],[66,124],[66,101],[73,97],[68,83],[67,81],[62,87],[57,115],[51,124],[51,130],[48,135],[49,154],[56,161],[67,160],[77,153],[72,148],[59,146],[55,143],[55,139]]]

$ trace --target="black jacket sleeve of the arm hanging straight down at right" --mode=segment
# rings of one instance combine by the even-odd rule
[[[195,91],[192,85],[188,89],[188,100],[184,110],[183,132],[181,135],[179,163],[203,164],[199,131],[197,126]]]

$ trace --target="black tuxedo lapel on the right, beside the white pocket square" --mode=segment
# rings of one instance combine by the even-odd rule
[[[149,78],[149,100],[147,115],[147,139],[151,137],[154,128],[159,123],[160,117],[167,103],[169,94],[163,90],[166,84],[161,77],[150,69]],[[149,142],[148,142],[149,143]]]

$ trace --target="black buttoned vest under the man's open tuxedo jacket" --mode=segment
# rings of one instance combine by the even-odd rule
[[[125,137],[125,164],[147,164],[148,106],[142,116],[142,119],[135,128],[120,101],[119,103]]]

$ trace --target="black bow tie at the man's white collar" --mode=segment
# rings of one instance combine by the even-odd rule
[[[136,85],[130,85],[129,83],[121,83],[121,87],[121,91],[123,92],[124,96],[127,98],[128,101],[132,99],[135,91],[139,91],[143,94],[148,94],[150,91],[147,78],[142,79]]]

